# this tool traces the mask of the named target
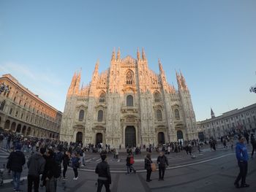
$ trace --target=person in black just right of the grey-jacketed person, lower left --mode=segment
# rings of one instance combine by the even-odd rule
[[[57,179],[60,177],[59,165],[54,159],[53,150],[49,149],[45,155],[45,170],[42,174],[42,185],[46,192],[56,192]]]

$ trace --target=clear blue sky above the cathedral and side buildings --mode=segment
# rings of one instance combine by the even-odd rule
[[[187,79],[197,120],[256,102],[256,1],[0,1],[0,75],[64,110],[72,74],[88,84],[113,47]],[[176,86],[177,87],[177,86]]]

